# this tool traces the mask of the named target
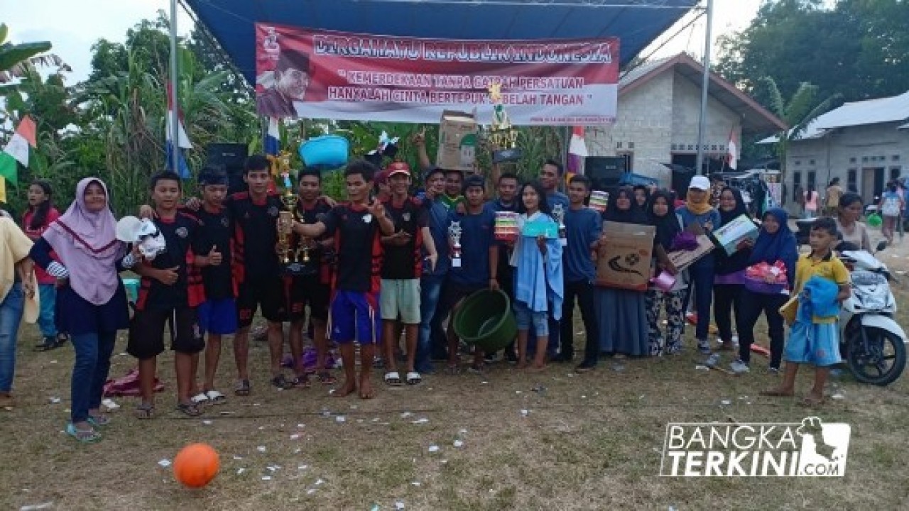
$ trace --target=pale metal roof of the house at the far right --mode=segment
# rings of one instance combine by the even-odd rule
[[[854,101],[834,108],[824,115],[818,115],[814,121],[805,126],[802,134],[795,137],[795,140],[822,138],[840,127],[898,123],[907,119],[909,119],[909,91],[901,95]],[[896,129],[909,129],[909,123],[896,126]],[[758,144],[774,144],[775,142],[776,137],[770,136]]]

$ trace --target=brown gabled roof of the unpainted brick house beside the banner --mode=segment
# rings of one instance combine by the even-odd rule
[[[677,75],[684,76],[684,78],[691,80],[697,85],[699,89],[701,88],[704,65],[694,60],[691,56],[682,53],[646,62],[626,71],[619,79],[619,96],[628,94],[669,70],[673,70]],[[707,94],[742,115],[742,131],[744,133],[770,133],[786,128],[782,119],[713,72],[710,73]]]

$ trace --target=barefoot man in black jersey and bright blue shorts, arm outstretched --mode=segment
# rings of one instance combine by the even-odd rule
[[[294,224],[298,235],[318,237],[335,236],[337,270],[332,285],[330,306],[331,338],[341,348],[344,361],[345,384],[336,396],[347,396],[356,391],[356,366],[354,340],[360,343],[360,397],[374,396],[370,382],[379,340],[379,271],[382,268],[382,235],[395,233],[395,224],[385,215],[385,206],[379,201],[370,202],[369,191],[375,165],[355,161],[345,169],[345,184],[350,203],[336,205],[315,224]]]

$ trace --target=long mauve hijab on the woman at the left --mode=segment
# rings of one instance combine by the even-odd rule
[[[85,206],[85,190],[97,183],[86,177],[75,186],[75,201],[51,224],[42,236],[69,270],[69,286],[95,306],[105,305],[114,296],[120,277],[116,262],[125,255],[125,245],[116,239],[116,220],[110,209],[92,213]]]

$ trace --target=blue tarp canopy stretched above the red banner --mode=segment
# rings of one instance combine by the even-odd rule
[[[250,84],[255,23],[450,39],[618,37],[622,65],[698,0],[185,0]]]

